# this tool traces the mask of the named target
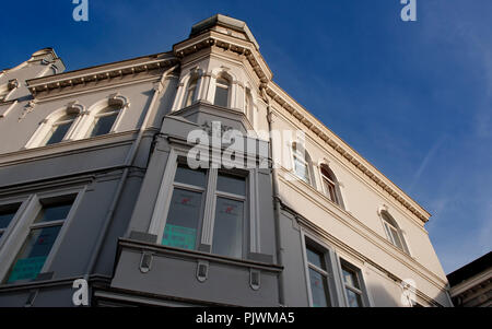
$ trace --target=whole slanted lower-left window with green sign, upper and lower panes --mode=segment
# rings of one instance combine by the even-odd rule
[[[69,214],[73,200],[42,205],[27,237],[4,279],[5,283],[30,282],[42,271]]]

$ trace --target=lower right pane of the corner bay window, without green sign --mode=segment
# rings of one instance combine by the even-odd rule
[[[213,254],[242,258],[243,219],[244,202],[216,198]]]

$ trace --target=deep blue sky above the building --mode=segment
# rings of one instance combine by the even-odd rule
[[[246,21],[273,80],[433,216],[446,273],[492,248],[492,1],[2,1],[0,68],[54,47],[68,70],[161,51],[194,23]]]

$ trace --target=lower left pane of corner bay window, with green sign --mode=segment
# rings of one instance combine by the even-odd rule
[[[161,242],[163,245],[191,250],[196,248],[201,199],[201,192],[174,189]]]

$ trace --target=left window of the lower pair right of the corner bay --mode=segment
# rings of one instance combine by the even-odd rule
[[[324,252],[306,245],[307,271],[313,307],[331,306],[328,272]]]

